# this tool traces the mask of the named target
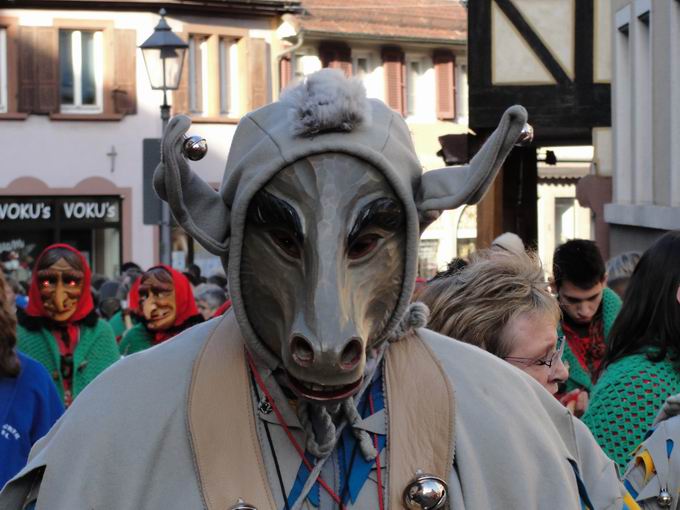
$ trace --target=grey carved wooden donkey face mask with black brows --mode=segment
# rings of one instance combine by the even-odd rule
[[[382,174],[343,154],[284,168],[251,201],[244,304],[300,396],[330,401],[358,390],[367,349],[401,293],[404,221]]]

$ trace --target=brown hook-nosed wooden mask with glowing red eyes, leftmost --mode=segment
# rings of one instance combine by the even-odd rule
[[[73,316],[83,293],[84,277],[63,258],[38,271],[40,299],[50,319],[66,322]]]

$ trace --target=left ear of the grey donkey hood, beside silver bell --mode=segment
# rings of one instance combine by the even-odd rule
[[[158,196],[168,202],[184,230],[214,255],[229,247],[229,208],[221,195],[189,168],[182,145],[189,117],[173,117],[161,141],[161,162],[153,175]]]

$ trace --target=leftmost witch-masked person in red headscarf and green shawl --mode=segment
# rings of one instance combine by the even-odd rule
[[[28,307],[18,313],[18,349],[45,366],[66,407],[120,358],[111,327],[94,310],[90,279],[78,250],[48,246],[33,270]]]

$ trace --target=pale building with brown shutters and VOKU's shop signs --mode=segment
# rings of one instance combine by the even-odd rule
[[[125,261],[158,262],[158,227],[144,222],[144,167],[146,141],[161,135],[162,92],[151,89],[138,50],[158,5],[116,4],[0,3],[0,252],[26,263],[52,242],[73,244],[108,276]],[[215,186],[240,116],[278,91],[275,31],[296,4],[164,4],[189,44],[173,114],[190,115],[192,133],[208,140],[194,166]],[[179,268],[219,268],[179,230],[173,251]]]

